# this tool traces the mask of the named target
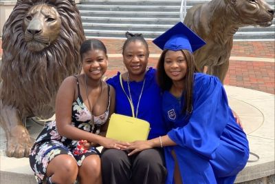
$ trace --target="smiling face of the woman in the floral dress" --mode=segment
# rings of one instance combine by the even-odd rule
[[[91,79],[101,79],[107,70],[107,63],[107,55],[103,50],[89,50],[83,53],[83,71]]]

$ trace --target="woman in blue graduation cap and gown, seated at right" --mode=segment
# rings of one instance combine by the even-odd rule
[[[219,79],[195,73],[192,52],[205,42],[183,23],[153,42],[164,50],[157,79],[164,90],[162,111],[168,133],[131,143],[129,155],[165,147],[166,183],[234,183],[248,161],[248,140]]]

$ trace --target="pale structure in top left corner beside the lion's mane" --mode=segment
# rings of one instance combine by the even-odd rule
[[[3,25],[7,21],[17,1],[1,1],[0,0],[0,37],[3,34]]]

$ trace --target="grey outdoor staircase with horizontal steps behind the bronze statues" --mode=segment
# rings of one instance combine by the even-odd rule
[[[187,10],[207,1],[188,0]],[[274,0],[266,1],[274,7]],[[181,0],[81,0],[78,9],[87,37],[124,38],[129,31],[153,39],[180,20],[180,5]],[[273,20],[268,28],[240,28],[234,40],[274,40],[274,35]]]

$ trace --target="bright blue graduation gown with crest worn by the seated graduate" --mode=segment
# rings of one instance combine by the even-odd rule
[[[181,112],[183,96],[164,92],[162,110],[168,136],[177,145],[165,147],[168,177],[174,183],[174,150],[184,184],[234,183],[248,161],[248,139],[236,123],[223,85],[215,76],[196,73],[192,114]]]

